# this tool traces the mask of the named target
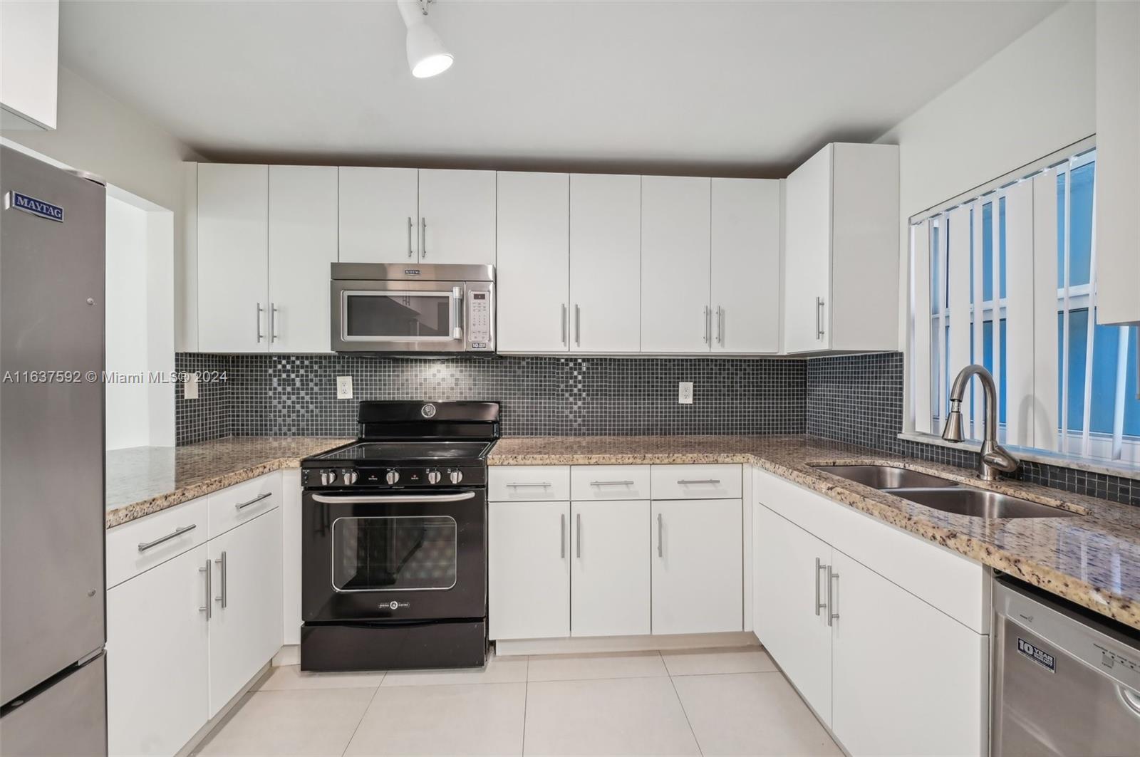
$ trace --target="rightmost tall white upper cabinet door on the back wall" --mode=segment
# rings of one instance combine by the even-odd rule
[[[712,351],[780,350],[780,181],[712,179]]]

